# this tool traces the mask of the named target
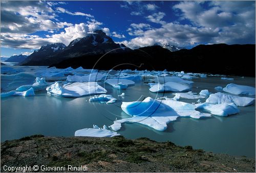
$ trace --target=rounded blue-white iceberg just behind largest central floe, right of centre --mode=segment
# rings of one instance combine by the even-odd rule
[[[151,92],[183,92],[190,91],[192,86],[187,83],[166,82],[164,84],[155,84],[150,88]]]

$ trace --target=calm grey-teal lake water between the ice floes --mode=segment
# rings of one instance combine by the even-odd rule
[[[234,80],[221,80],[221,77],[194,78],[193,92],[207,89],[216,93],[217,86],[225,87],[236,83],[255,87],[255,78],[227,76]],[[5,84],[1,78],[1,84]],[[31,83],[30,83],[31,84]],[[50,96],[46,91],[35,92],[33,97],[1,98],[1,142],[25,136],[42,134],[45,136],[74,136],[75,131],[92,128],[93,124],[109,126],[116,119],[129,117],[120,108],[122,101],[142,100],[144,97],[162,97],[148,90],[148,86],[136,82],[135,86],[118,91],[110,85],[102,87],[118,101],[115,104],[89,102],[90,96],[62,98]],[[125,97],[119,97],[121,93]],[[174,97],[173,93],[164,96]],[[180,99],[196,102],[198,99]],[[201,99],[202,102],[205,99]],[[138,123],[126,123],[118,133],[129,139],[147,137],[155,141],[172,141],[177,145],[191,145],[207,152],[236,156],[255,157],[255,103],[239,107],[240,113],[228,117],[212,115],[211,118],[178,118],[168,124],[164,132]]]

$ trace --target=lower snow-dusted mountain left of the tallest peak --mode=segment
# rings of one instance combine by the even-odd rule
[[[57,54],[65,48],[67,48],[66,45],[62,43],[42,46],[39,50],[36,50],[31,55],[29,55],[24,61],[20,62],[20,64],[30,65],[31,62],[33,62],[33,64],[37,64],[38,66],[40,66],[41,62],[46,60],[46,57]]]

